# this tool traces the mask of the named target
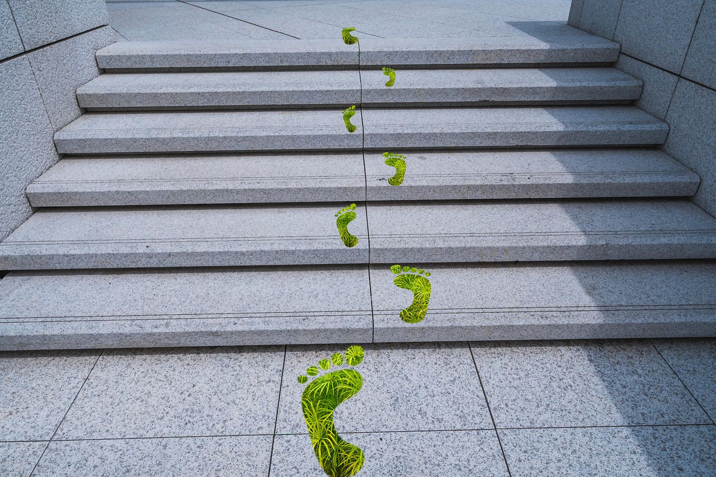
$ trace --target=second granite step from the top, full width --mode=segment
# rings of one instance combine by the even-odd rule
[[[102,74],[77,89],[94,111],[631,102],[641,80],[615,68],[382,69]],[[362,87],[362,99],[361,99]]]

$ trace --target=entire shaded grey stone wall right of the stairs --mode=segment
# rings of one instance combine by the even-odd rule
[[[701,176],[716,215],[716,0],[572,0],[569,24],[621,44],[616,67],[644,81],[637,106],[669,124],[664,151]]]

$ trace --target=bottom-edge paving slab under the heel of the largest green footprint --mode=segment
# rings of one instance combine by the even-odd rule
[[[495,431],[342,433],[364,452],[367,477],[507,477]],[[309,436],[276,436],[272,477],[320,476]]]

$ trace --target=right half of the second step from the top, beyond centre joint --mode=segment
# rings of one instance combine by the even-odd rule
[[[390,65],[390,64],[389,64]],[[361,70],[362,105],[579,104],[631,102],[642,82],[614,68]]]

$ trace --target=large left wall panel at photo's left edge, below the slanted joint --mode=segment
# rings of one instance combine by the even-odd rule
[[[25,187],[59,159],[26,56],[0,64],[0,240],[32,215]]]

